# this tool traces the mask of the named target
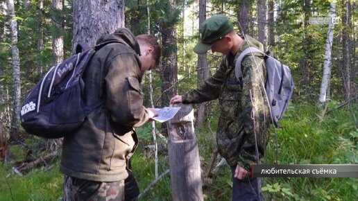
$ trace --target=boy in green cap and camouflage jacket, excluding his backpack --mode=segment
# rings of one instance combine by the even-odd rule
[[[203,103],[219,99],[221,110],[216,134],[218,150],[232,168],[232,200],[263,200],[259,178],[249,179],[250,164],[264,156],[269,130],[269,105],[264,89],[265,64],[262,55],[252,53],[241,62],[242,80],[235,77],[235,62],[248,46],[263,51],[257,40],[240,37],[227,17],[214,15],[200,28],[196,53],[223,53],[216,73],[198,89],[174,96],[171,103]],[[259,196],[258,196],[259,195]]]

